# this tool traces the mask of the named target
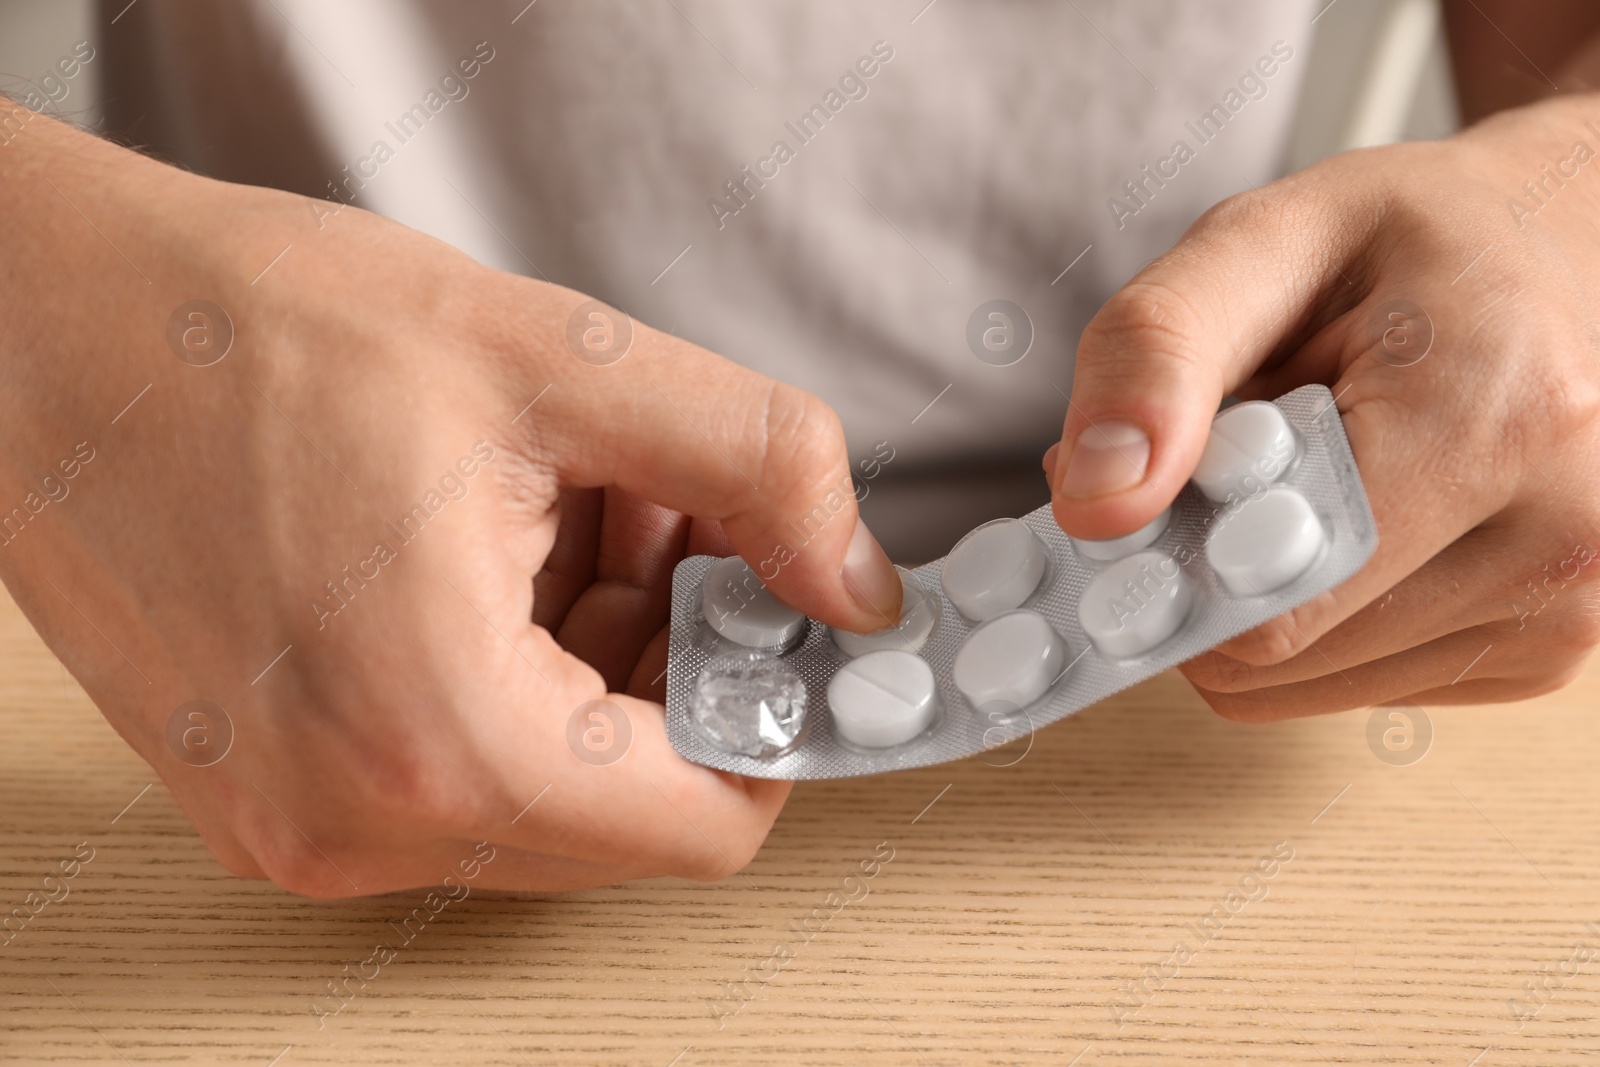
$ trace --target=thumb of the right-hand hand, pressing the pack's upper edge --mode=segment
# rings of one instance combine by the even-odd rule
[[[1120,537],[1170,506],[1222,397],[1342,285],[1354,238],[1310,226],[1314,198],[1288,184],[1211,208],[1083,330],[1061,443],[1045,458],[1066,533]]]

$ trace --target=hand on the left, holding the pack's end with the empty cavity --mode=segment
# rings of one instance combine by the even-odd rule
[[[45,118],[0,187],[0,499],[45,501],[0,568],[227,869],[354,896],[467,862],[557,889],[749,861],[787,784],[667,744],[672,566],[770,560],[810,517],[771,589],[893,619],[830,410],[642,323],[594,365],[578,293]],[[218,315],[168,347],[195,298],[235,334],[205,366]],[[232,726],[206,766],[174,720],[195,699]],[[602,699],[579,733],[616,747],[570,744]]]

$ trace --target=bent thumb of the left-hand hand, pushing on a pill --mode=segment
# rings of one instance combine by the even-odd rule
[[[720,520],[779,600],[829,625],[882,630],[899,621],[901,579],[856,512],[832,408],[622,312],[558,293],[568,315],[573,306],[598,307],[614,317],[616,334],[632,331],[613,363],[552,357],[555,381],[534,408],[538,453],[563,485],[616,485]]]

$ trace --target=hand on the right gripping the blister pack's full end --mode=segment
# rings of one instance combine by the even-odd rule
[[[1075,536],[1154,518],[1224,395],[1338,398],[1378,550],[1181,667],[1219,713],[1523,699],[1600,643],[1597,104],[1557,98],[1226,200],[1085,330],[1045,458]]]

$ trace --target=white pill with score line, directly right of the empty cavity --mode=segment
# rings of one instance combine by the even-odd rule
[[[827,683],[827,707],[840,737],[886,749],[928,728],[939,705],[936,693],[926,661],[885,648],[840,667]]]

